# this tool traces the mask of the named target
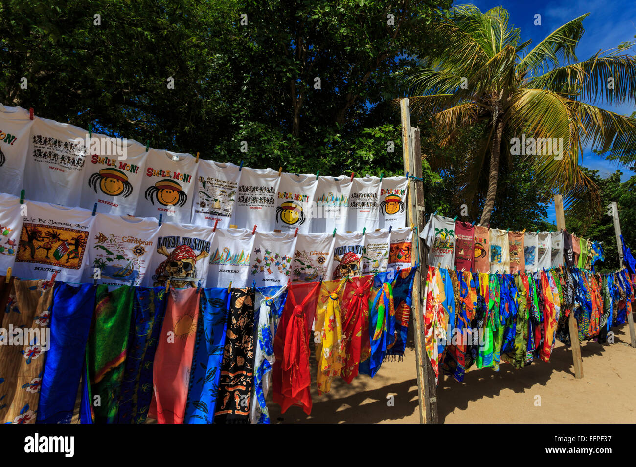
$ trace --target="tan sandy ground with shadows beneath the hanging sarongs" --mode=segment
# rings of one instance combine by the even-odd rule
[[[291,407],[281,415],[269,398],[272,423],[418,423],[412,328],[403,362],[383,363],[373,379],[358,376],[350,385],[336,378],[327,395],[315,389],[312,355],[312,414]],[[439,423],[636,423],[636,349],[627,325],[612,330],[614,344],[582,344],[583,379],[574,377],[572,352],[560,342],[550,363],[520,370],[502,363],[499,372],[469,371],[462,383],[443,377]]]

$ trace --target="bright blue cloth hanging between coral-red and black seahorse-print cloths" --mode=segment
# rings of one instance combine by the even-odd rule
[[[185,423],[212,423],[228,325],[227,287],[202,288]]]

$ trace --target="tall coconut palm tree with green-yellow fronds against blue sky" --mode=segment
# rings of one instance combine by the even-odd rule
[[[500,162],[510,165],[513,156],[533,157],[537,182],[550,193],[565,193],[566,203],[587,196],[596,204],[598,189],[578,165],[584,147],[609,151],[621,163],[636,159],[636,119],[593,105],[636,100],[636,61],[616,50],[579,62],[575,51],[588,14],[527,51],[531,41],[521,42],[504,8],[481,13],[473,5],[458,6],[438,26],[446,39],[441,53],[403,72],[411,111],[430,119],[443,145],[467,128],[484,126],[480,150],[467,154],[463,184],[469,200],[480,191],[480,179],[481,193],[487,191],[481,225],[494,209]],[[556,138],[563,151],[547,154],[547,140],[538,140],[541,154],[526,154],[524,147],[515,154],[520,146],[513,146],[513,138],[522,135],[534,139],[529,152],[539,138]],[[488,177],[480,177],[488,159]]]

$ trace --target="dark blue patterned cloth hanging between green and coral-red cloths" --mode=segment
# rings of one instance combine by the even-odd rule
[[[135,287],[118,423],[146,421],[153,396],[153,361],[167,302],[165,287]]]

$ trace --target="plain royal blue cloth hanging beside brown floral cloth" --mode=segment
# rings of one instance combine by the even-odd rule
[[[94,309],[92,284],[55,283],[38,423],[71,423]]]

